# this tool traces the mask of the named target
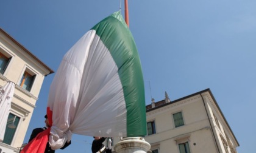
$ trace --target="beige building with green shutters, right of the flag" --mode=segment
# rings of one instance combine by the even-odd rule
[[[236,153],[239,146],[210,89],[179,100],[146,106],[148,135],[153,153]]]

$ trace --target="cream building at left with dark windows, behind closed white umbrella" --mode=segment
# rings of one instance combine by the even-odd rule
[[[0,86],[15,83],[1,153],[20,151],[44,77],[51,73],[52,69],[0,29]]]

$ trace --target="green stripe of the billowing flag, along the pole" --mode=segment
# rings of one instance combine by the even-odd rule
[[[121,12],[115,12],[92,29],[105,44],[118,67],[127,109],[127,137],[146,135],[144,81],[132,33]]]

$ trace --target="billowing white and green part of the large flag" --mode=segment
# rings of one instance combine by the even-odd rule
[[[115,12],[65,54],[48,99],[49,143],[59,149],[71,134],[146,135],[144,81],[132,33]]]

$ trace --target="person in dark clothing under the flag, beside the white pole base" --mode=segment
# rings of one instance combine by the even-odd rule
[[[93,144],[91,145],[91,151],[93,153],[111,153],[111,149],[105,148],[104,144],[102,144],[106,138],[104,137],[93,137]]]

